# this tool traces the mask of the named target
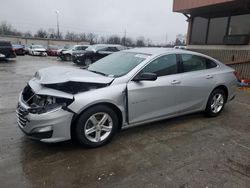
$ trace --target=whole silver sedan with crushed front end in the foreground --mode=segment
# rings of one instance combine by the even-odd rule
[[[85,69],[41,69],[19,97],[17,122],[29,137],[53,143],[75,137],[106,144],[121,128],[198,111],[219,115],[235,97],[234,70],[190,51],[130,49]]]

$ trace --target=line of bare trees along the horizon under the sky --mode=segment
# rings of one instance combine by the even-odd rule
[[[120,37],[119,35],[111,35],[111,36],[98,36],[95,33],[75,33],[72,31],[67,31],[65,35],[63,35],[61,32],[58,34],[54,29],[38,29],[35,34],[32,34],[31,32],[21,32],[17,29],[13,28],[11,24],[8,24],[7,22],[2,22],[0,24],[0,35],[12,35],[12,36],[20,36],[20,37],[26,37],[26,38],[48,38],[48,39],[64,39],[64,40],[71,40],[71,41],[86,41],[90,44],[121,44],[124,46],[138,46],[138,47],[144,47],[144,46],[159,46],[152,43],[152,41],[148,38],[145,39],[143,36],[137,37],[136,39],[132,39],[131,37]],[[169,44],[165,44],[164,46],[174,46],[174,45],[185,45],[185,41],[182,41],[179,39],[177,35],[177,38],[175,41]]]

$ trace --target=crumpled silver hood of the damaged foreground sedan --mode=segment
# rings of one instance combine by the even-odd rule
[[[49,67],[40,69],[33,81],[40,84],[56,84],[64,82],[111,83],[114,78],[102,76],[88,70],[67,67]]]

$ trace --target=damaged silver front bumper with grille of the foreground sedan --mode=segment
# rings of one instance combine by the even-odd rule
[[[47,112],[31,113],[32,107],[20,94],[16,109],[17,123],[19,128],[28,137],[46,143],[55,143],[71,139],[71,121],[74,116],[63,106],[57,106]]]

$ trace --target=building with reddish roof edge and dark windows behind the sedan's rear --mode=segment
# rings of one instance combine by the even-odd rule
[[[188,49],[230,64],[250,78],[250,1],[174,0],[189,22]]]

